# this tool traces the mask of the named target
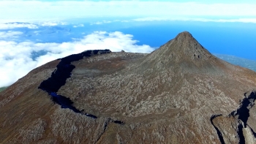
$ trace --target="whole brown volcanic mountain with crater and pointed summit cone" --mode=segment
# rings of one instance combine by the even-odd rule
[[[256,143],[255,89],[187,31],[150,54],[87,50],[0,93],[0,142]]]

